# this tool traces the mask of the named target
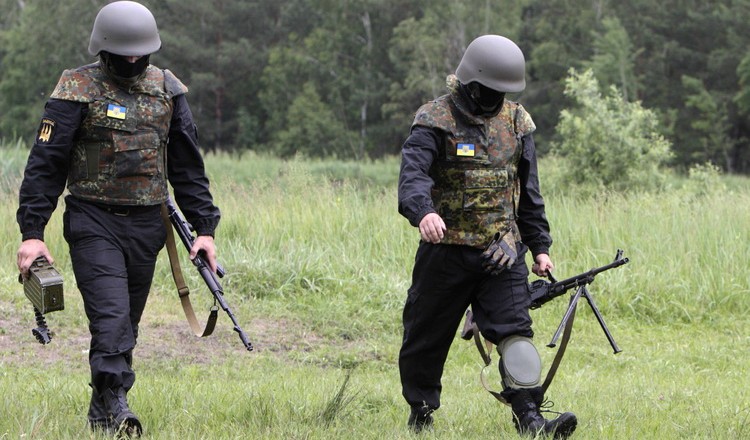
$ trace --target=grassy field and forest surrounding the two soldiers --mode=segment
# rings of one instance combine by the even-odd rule
[[[66,309],[46,346],[29,331],[12,219],[44,101],[62,69],[94,61],[104,3],[0,0],[2,439],[97,438],[64,207],[47,235]],[[397,153],[416,108],[489,32],[528,59],[514,99],[539,127],[558,276],[618,248],[631,259],[592,286],[623,352],[582,307],[554,409],[579,416],[581,440],[748,438],[750,1],[144,3],[164,42],[153,62],[190,87],[212,150],[222,282],[256,348],[224,315],[212,337],[190,334],[162,253],[129,394],[149,438],[416,438],[397,357],[418,233],[396,211]],[[210,295],[185,273],[205,312]],[[566,305],[533,312],[546,366]],[[425,438],[515,438],[481,367],[457,340]]]

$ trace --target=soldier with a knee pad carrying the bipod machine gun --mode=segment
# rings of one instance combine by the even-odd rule
[[[519,47],[499,35],[469,44],[448,94],[416,113],[402,148],[398,210],[419,228],[412,285],[403,310],[399,353],[408,426],[432,425],[441,376],[464,312],[471,307],[482,335],[496,344],[501,396],[522,436],[567,438],[572,413],[546,420],[541,360],[532,342],[529,269],[553,269],[552,238],[539,190],[526,110],[506,93],[526,87]]]

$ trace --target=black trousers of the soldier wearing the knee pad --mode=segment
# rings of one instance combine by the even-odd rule
[[[441,377],[466,309],[487,340],[532,337],[528,290],[528,248],[518,243],[518,260],[492,276],[482,269],[481,249],[421,242],[403,311],[399,353],[402,394],[412,407],[440,407]]]

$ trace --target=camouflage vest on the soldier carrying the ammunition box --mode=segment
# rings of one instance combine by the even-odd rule
[[[88,104],[71,152],[68,191],[115,205],[166,200],[172,98],[186,92],[170,71],[154,66],[129,91],[117,87],[98,63],[63,72],[51,97]]]

